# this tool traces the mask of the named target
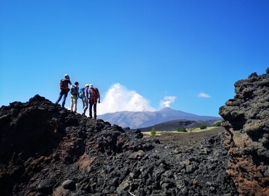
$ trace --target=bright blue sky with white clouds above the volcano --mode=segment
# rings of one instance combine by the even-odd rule
[[[99,88],[99,113],[218,116],[235,81],[266,73],[268,10],[267,0],[0,0],[0,106],[55,102],[68,73]]]

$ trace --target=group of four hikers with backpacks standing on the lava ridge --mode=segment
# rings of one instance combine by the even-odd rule
[[[57,99],[57,102],[55,104],[58,104],[59,101],[63,98],[63,102],[61,106],[64,108],[64,104],[66,103],[66,97],[69,91],[71,91],[71,111],[77,112],[77,103],[78,99],[82,99],[83,104],[83,111],[82,114],[85,115],[88,104],[89,104],[89,118],[92,118],[92,108],[94,108],[94,119],[96,119],[96,105],[97,103],[100,104],[100,94],[97,87],[94,87],[92,84],[87,84],[85,87],[82,87],[81,89],[78,87],[79,83],[75,82],[75,85],[71,86],[71,89],[68,87],[69,85],[72,85],[71,80],[68,76],[68,74],[64,75],[64,79],[60,80],[60,94],[59,98]]]

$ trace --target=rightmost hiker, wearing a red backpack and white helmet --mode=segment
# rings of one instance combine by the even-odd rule
[[[94,119],[96,119],[96,105],[97,102],[100,104],[100,94],[97,87],[89,85],[89,118],[92,118],[92,106],[94,106]]]

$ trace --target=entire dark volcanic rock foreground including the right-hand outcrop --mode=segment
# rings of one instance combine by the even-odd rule
[[[38,94],[0,109],[0,195],[269,195],[269,69],[235,83],[226,132],[143,139]]]

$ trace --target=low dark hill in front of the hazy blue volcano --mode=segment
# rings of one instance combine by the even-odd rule
[[[159,132],[171,132],[177,130],[178,127],[185,127],[185,128],[194,128],[199,127],[201,123],[205,123],[207,126],[212,126],[216,120],[171,120],[165,123],[159,123],[157,125],[152,125],[150,127],[140,128],[143,132],[150,132],[154,127]]]

